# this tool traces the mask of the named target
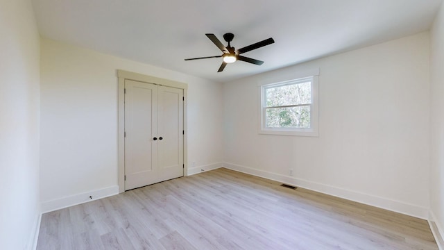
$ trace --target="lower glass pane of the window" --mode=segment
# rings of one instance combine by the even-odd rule
[[[267,108],[267,128],[310,128],[310,106]]]

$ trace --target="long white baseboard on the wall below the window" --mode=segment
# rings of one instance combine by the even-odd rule
[[[271,172],[266,172],[259,169],[253,169],[251,167],[245,167],[241,165],[236,165],[232,163],[224,163],[223,167],[232,169],[234,171],[243,172],[246,174],[251,174],[254,176],[259,176],[263,178],[268,178],[273,181],[279,181],[289,185],[296,185],[300,188],[306,188],[308,190],[314,190],[316,192],[321,192],[324,194],[330,194],[334,197],[340,197],[343,199],[348,199],[351,201],[357,201],[359,203],[364,203],[370,206],[375,206],[378,208],[384,208],[386,210],[391,210],[397,213],[402,213],[404,215],[411,215],[413,217],[418,217],[421,219],[427,219],[429,217],[429,209],[422,208],[409,203],[404,203],[402,201],[395,201],[391,199],[386,199],[383,197],[373,196],[371,194],[364,194],[361,192],[355,192],[352,190],[346,190],[343,188],[337,188],[331,185],[325,185],[322,183],[316,183],[313,181],[306,181],[300,178],[295,178],[293,176],[284,176],[282,174],[275,174]]]

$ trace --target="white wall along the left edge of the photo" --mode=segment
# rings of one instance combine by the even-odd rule
[[[0,0],[0,249],[31,249],[39,207],[39,35],[28,0]]]

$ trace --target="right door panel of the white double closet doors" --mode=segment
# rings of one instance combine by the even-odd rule
[[[160,181],[183,176],[183,90],[158,88]]]

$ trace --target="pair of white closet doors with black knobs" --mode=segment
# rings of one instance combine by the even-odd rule
[[[125,80],[125,190],[183,176],[183,90]]]

